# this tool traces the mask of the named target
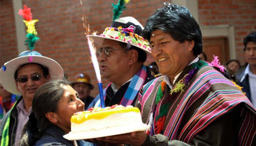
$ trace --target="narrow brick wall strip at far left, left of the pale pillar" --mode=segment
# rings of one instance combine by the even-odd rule
[[[0,0],[0,65],[18,55],[11,0]]]

